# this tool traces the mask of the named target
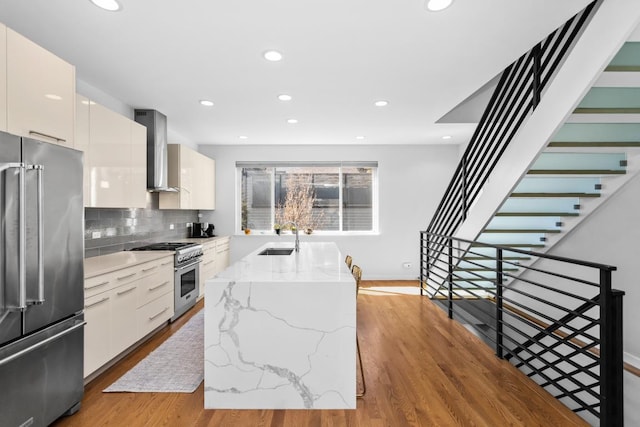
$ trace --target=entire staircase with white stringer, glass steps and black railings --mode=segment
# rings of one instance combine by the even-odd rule
[[[639,12],[594,2],[505,69],[420,240],[421,294],[592,425],[624,422],[624,292],[547,252],[640,171]]]

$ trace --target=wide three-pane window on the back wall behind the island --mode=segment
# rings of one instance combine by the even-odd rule
[[[237,162],[240,228],[378,231],[377,162]],[[286,228],[286,227],[285,227]]]

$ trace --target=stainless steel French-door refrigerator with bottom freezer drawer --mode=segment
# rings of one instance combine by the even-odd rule
[[[46,426],[83,386],[82,153],[0,132],[0,426]]]

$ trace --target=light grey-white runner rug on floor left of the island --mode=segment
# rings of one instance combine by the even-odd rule
[[[204,379],[204,310],[104,389],[109,392],[193,393]]]

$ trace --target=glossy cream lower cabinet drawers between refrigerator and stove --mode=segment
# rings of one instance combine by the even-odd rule
[[[173,316],[173,255],[85,279],[87,378]]]

